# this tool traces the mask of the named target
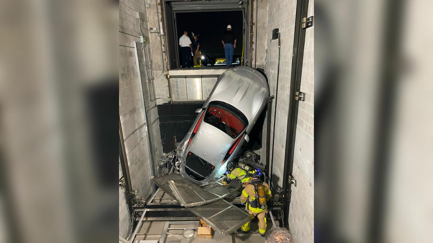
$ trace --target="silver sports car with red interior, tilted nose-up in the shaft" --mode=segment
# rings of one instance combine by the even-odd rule
[[[268,83],[256,69],[236,66],[224,72],[176,149],[176,169],[200,185],[219,179],[249,141],[268,99]]]

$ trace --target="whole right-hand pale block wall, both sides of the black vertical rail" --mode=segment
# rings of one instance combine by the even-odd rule
[[[308,16],[313,15],[313,0],[309,1]],[[282,186],[284,151],[286,142],[287,116],[290,91],[291,61],[294,41],[296,1],[273,0],[268,3],[267,39],[274,28],[281,33],[281,61],[278,84],[278,101],[273,102],[272,110],[277,109],[275,123],[275,152],[273,178],[274,185]],[[301,91],[306,93],[306,101],[299,103],[298,123],[295,141],[293,174],[297,186],[292,186],[289,213],[289,229],[297,243],[312,243],[314,235],[314,27],[306,30]],[[271,95],[276,91],[278,63],[278,40],[273,40],[266,65]],[[270,62],[270,63],[269,63]],[[268,69],[268,65],[270,68]],[[273,112],[272,112],[273,114]],[[272,116],[271,126],[274,123]],[[274,131],[271,127],[271,139]],[[265,133],[263,134],[265,138]],[[272,141],[271,141],[272,149]],[[272,150],[271,150],[272,153]]]

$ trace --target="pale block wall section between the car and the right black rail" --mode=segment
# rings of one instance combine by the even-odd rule
[[[266,40],[271,39],[272,30],[279,28],[281,33],[281,58],[280,73],[278,82],[278,99],[272,102],[271,116],[271,144],[270,159],[272,158],[272,136],[274,134],[274,112],[275,107],[277,116],[275,121],[275,146],[274,146],[274,165],[272,181],[275,186],[282,186],[282,174],[284,164],[284,151],[287,132],[287,116],[289,106],[291,60],[293,53],[294,24],[296,16],[296,1],[294,0],[272,0],[268,3],[268,25],[266,30]],[[268,76],[271,95],[276,94],[277,69],[278,69],[278,40],[268,41],[268,58],[266,60],[266,75]],[[270,63],[269,63],[270,62]],[[269,66],[270,65],[270,66]],[[265,134],[264,136],[265,137]]]

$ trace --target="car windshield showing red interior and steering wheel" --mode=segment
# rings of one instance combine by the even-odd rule
[[[222,101],[210,102],[204,116],[204,122],[215,126],[233,139],[248,124],[248,120],[242,112]]]

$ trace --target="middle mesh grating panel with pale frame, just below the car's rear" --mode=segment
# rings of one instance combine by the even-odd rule
[[[216,195],[196,186],[187,186],[168,181],[171,190],[182,206],[192,207],[223,199],[226,195]]]

